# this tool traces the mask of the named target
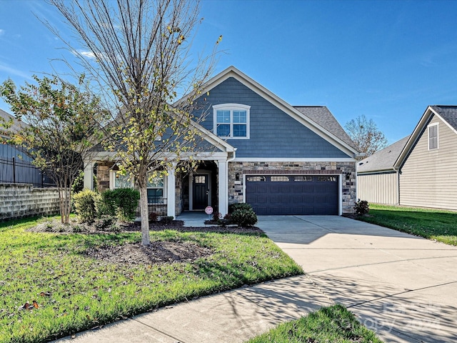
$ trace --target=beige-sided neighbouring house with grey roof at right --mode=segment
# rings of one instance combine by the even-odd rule
[[[397,156],[381,168],[386,150]],[[457,106],[428,106],[411,136],[359,162],[358,197],[381,204],[457,210],[456,167]],[[383,172],[395,176],[381,184],[381,177],[374,176]]]

